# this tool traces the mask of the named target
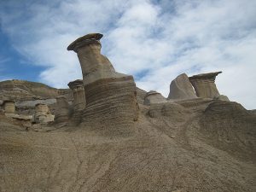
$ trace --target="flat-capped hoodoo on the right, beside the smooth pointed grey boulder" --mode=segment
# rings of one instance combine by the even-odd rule
[[[219,96],[218,89],[215,84],[216,76],[222,72],[201,73],[189,77],[189,81],[195,88],[196,96],[202,98],[214,98]]]

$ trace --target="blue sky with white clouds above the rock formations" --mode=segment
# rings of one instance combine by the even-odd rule
[[[81,79],[67,45],[102,32],[102,53],[137,86],[168,95],[180,73],[223,71],[218,90],[256,108],[256,1],[0,1],[0,80],[67,87]]]

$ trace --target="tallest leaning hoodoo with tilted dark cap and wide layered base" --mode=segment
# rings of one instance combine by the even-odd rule
[[[101,54],[102,36],[90,33],[67,47],[78,54],[83,73],[86,108],[82,122],[127,125],[138,115],[136,84],[131,75],[115,72],[108,58]]]

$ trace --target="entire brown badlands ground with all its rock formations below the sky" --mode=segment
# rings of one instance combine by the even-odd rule
[[[136,87],[101,54],[102,34],[67,49],[70,89],[0,82],[0,192],[256,191],[256,113],[221,95],[221,72]]]

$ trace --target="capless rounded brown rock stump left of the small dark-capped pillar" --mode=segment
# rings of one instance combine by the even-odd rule
[[[65,96],[56,98],[55,123],[67,122],[71,116],[72,110]]]

